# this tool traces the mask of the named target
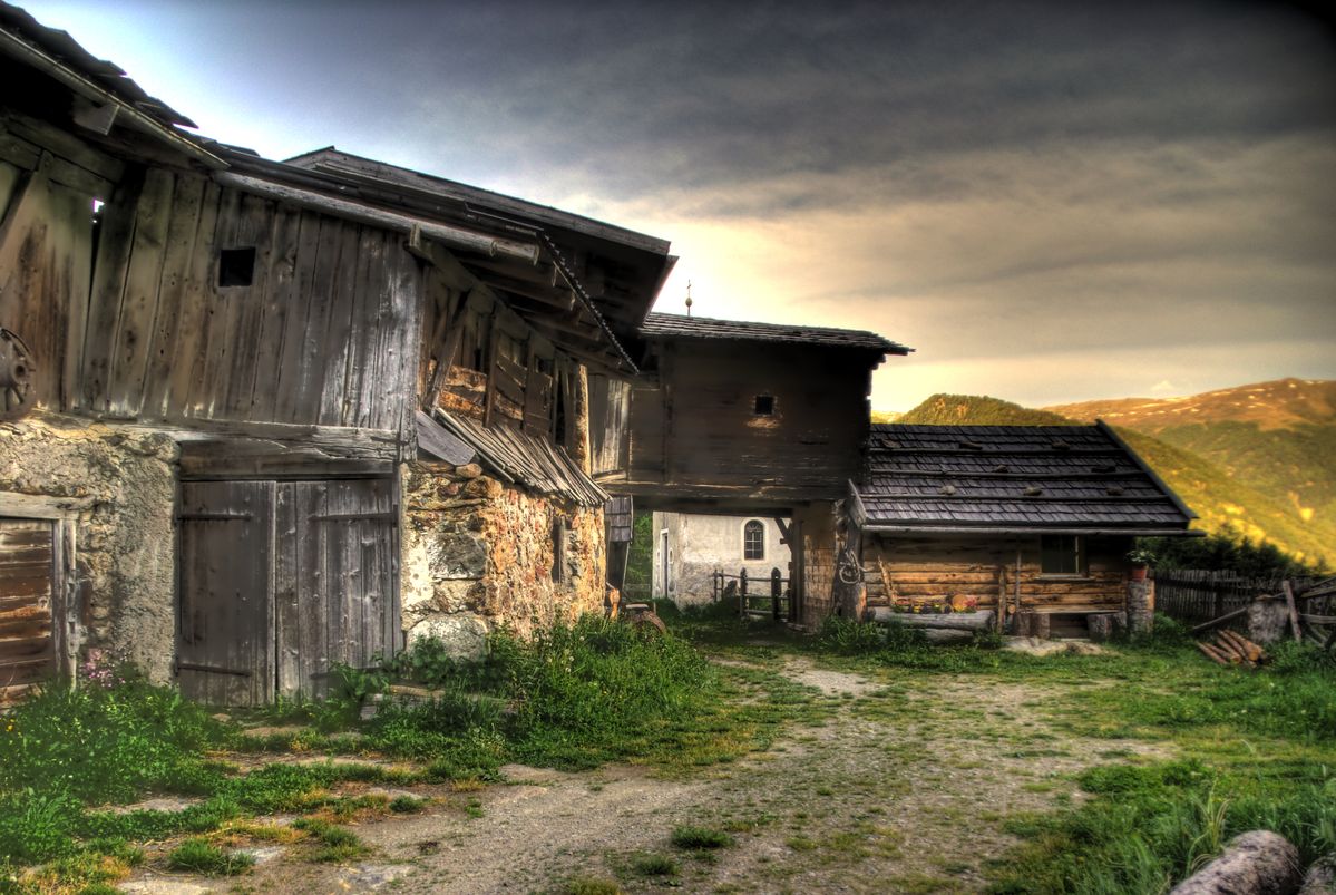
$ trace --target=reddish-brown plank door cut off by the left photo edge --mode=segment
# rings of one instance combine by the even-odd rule
[[[0,518],[0,705],[56,673],[55,529]]]

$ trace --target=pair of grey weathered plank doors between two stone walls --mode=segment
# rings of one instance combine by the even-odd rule
[[[393,481],[182,485],[178,671],[191,699],[322,696],[398,643]]]

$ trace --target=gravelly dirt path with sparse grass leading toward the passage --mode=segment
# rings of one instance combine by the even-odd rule
[[[779,671],[840,704],[824,725],[794,729],[768,752],[685,781],[632,765],[585,773],[512,765],[509,785],[420,788],[437,797],[426,812],[354,827],[373,859],[338,867],[275,852],[238,883],[251,892],[560,891],[574,878],[627,891],[669,880],[693,892],[977,891],[983,862],[1013,842],[1005,816],[1077,797],[1071,773],[1109,748],[1047,723],[1042,708],[1054,685],[898,681],[891,672],[872,680],[794,657]],[[1105,755],[1153,748],[1120,745]],[[669,842],[679,824],[727,828],[736,844],[693,856]],[[647,874],[651,856],[676,872]],[[144,882],[152,875],[132,884]],[[184,892],[232,888],[171,883],[203,887],[175,890]]]

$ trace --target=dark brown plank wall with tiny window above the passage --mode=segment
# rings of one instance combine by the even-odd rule
[[[842,492],[867,435],[868,366],[819,346],[660,342],[632,397],[632,478]],[[758,415],[758,395],[774,414]]]

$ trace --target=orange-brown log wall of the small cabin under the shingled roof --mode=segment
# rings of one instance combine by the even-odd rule
[[[1089,538],[1078,577],[1043,574],[1038,536],[879,536],[863,541],[870,606],[926,605],[959,596],[979,609],[1089,613],[1122,609],[1128,538]],[[1017,553],[1019,552],[1019,577]]]

